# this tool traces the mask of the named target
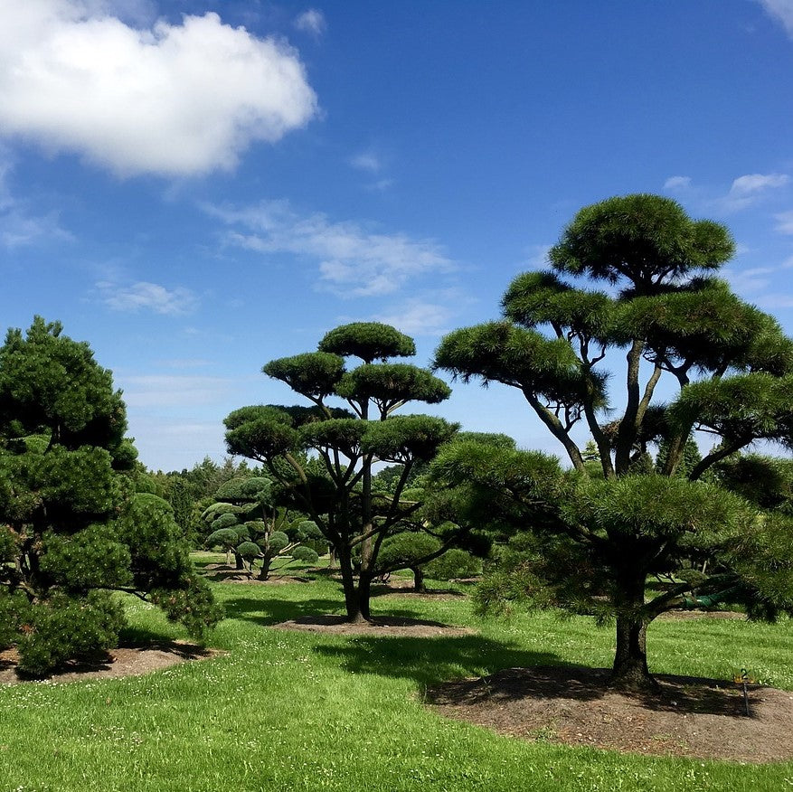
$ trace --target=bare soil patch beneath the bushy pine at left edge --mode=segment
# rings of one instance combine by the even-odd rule
[[[188,660],[204,660],[222,655],[218,649],[207,649],[183,641],[165,641],[152,646],[118,646],[91,660],[70,661],[61,670],[46,677],[48,682],[78,682],[84,679],[118,679],[159,671]],[[15,649],[0,652],[0,684],[30,682],[17,673],[19,659]]]

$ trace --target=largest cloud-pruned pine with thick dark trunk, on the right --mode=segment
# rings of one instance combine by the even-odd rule
[[[666,609],[712,606],[727,592],[755,617],[793,608],[793,534],[779,514],[759,516],[701,481],[755,440],[789,444],[793,428],[793,343],[713,277],[733,247],[722,225],[693,221],[666,198],[596,203],[562,233],[550,271],[515,278],[502,321],[455,331],[436,353],[435,365],[465,382],[521,391],[567,452],[572,473],[543,455],[479,452],[475,462],[459,450],[437,470],[470,486],[474,502],[489,498],[488,514],[497,506],[505,524],[531,526],[521,560],[500,578],[508,596],[530,590],[536,601],[616,617],[613,684],[652,685],[647,625]],[[603,367],[620,349],[618,394]],[[662,378],[676,386],[666,404],[656,398]],[[606,421],[615,410],[618,420]],[[594,440],[586,454],[573,438],[580,424]],[[693,431],[716,439],[698,459]],[[654,444],[663,446],[657,470]],[[595,458],[599,480],[588,471]],[[693,556],[711,560],[709,574],[683,573]],[[669,584],[649,601],[647,575]]]

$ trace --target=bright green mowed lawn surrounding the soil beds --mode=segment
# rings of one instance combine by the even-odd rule
[[[287,570],[287,573],[288,570]],[[439,584],[443,585],[443,584]],[[147,676],[0,689],[2,792],[198,790],[779,790],[793,763],[655,759],[499,737],[421,704],[427,684],[499,668],[610,665],[612,630],[542,613],[480,622],[464,597],[373,600],[376,613],[468,625],[476,635],[342,637],[271,625],[341,613],[338,584],[215,586],[227,655]],[[129,635],[181,637],[130,601]],[[793,690],[790,625],[658,621],[656,673],[732,677]],[[791,693],[793,694],[793,693]]]

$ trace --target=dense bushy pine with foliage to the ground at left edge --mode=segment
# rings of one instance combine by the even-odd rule
[[[113,591],[200,637],[220,618],[170,506],[135,491],[120,391],[88,344],[40,317],[0,349],[0,636],[46,674],[115,646]]]

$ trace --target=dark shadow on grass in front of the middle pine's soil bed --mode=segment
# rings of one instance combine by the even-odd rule
[[[444,679],[481,677],[499,668],[561,664],[551,652],[530,652],[483,636],[354,636],[344,646],[315,646],[351,674],[412,679],[422,689]]]

